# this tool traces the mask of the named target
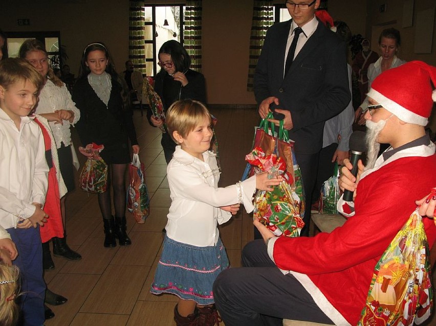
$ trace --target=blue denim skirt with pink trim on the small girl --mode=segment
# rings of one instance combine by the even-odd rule
[[[221,239],[215,246],[197,247],[165,236],[150,292],[172,293],[199,305],[210,305],[214,302],[213,282],[228,267],[229,259]]]

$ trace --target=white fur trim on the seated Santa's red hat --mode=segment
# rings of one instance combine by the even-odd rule
[[[401,121],[416,124],[420,126],[426,126],[428,123],[428,119],[409,111],[408,109],[402,107],[398,103],[393,100],[388,99],[383,94],[378,92],[377,90],[371,88],[367,94],[368,97],[374,99],[377,103],[383,105],[383,107],[391,113],[394,113],[398,119]],[[432,94],[433,101],[436,101],[436,92],[433,91]]]

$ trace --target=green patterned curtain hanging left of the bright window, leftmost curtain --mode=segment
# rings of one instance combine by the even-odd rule
[[[145,25],[144,1],[130,1],[128,28],[128,58],[135,70],[145,75]]]

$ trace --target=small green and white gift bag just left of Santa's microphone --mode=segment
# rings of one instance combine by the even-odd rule
[[[336,208],[341,191],[339,188],[339,166],[335,163],[333,176],[325,180],[321,187],[319,196],[319,213],[321,214],[338,214]]]

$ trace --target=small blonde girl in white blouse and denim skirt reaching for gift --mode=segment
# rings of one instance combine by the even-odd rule
[[[202,325],[214,325],[219,319],[213,281],[229,267],[216,225],[227,222],[241,203],[251,212],[256,188],[272,190],[280,177],[268,179],[262,173],[218,188],[220,172],[215,154],[208,151],[212,131],[207,108],[197,101],[177,101],[168,109],[166,124],[178,146],[167,168],[172,202],[150,291],[179,297],[174,311],[177,325],[196,319]]]

